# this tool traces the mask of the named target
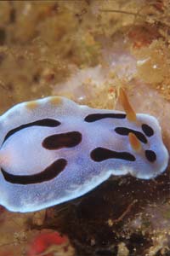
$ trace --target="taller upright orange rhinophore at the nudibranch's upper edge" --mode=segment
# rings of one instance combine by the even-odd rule
[[[136,113],[134,112],[131,104],[128,102],[125,90],[123,90],[122,88],[120,89],[120,101],[122,103],[122,107],[127,113],[127,119],[131,122],[136,122]]]

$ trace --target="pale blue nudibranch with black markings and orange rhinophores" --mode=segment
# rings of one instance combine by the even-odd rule
[[[50,96],[0,116],[0,204],[33,212],[84,195],[111,175],[150,179],[168,153],[155,117],[127,100],[113,111]]]

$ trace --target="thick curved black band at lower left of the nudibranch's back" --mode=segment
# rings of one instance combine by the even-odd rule
[[[59,173],[65,169],[66,165],[67,161],[65,159],[59,159],[54,161],[54,163],[51,166],[48,166],[44,171],[34,175],[14,175],[4,171],[3,169],[1,169],[1,171],[3,172],[4,179],[8,183],[27,185],[46,182],[57,177]]]

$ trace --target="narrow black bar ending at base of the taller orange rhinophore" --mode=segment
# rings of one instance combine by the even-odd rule
[[[125,119],[126,114],[125,113],[91,113],[88,114],[84,121],[91,123],[98,121],[100,119]]]

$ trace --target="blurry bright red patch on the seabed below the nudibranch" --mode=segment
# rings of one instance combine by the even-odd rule
[[[38,235],[31,243],[27,256],[35,256],[43,253],[52,245],[61,246],[68,242],[66,236],[60,236],[58,232],[47,232]],[[48,254],[48,256],[51,255]]]

